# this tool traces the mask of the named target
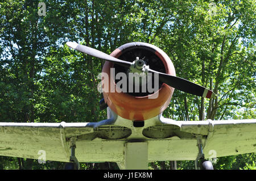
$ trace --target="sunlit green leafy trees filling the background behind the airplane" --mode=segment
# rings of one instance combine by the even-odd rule
[[[204,100],[175,91],[163,116],[175,120],[255,118],[255,1],[0,2],[0,119],[4,122],[103,120],[97,74],[104,61],[73,51],[67,41],[111,53],[143,41],[170,56],[176,75],[217,94]],[[205,112],[205,116],[204,116]],[[255,154],[218,158],[216,169],[255,169]],[[60,169],[63,163],[1,157],[1,169]],[[105,164],[105,163],[104,163]],[[82,169],[116,165],[81,163]],[[150,163],[170,169],[170,162]],[[194,169],[177,161],[178,169]]]

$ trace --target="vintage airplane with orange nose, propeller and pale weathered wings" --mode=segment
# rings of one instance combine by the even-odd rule
[[[100,108],[107,109],[108,119],[89,123],[0,123],[0,155],[32,159],[44,156],[44,160],[67,162],[64,169],[68,170],[79,169],[79,162],[116,162],[119,169],[143,170],[148,169],[148,162],[170,160],[193,160],[196,169],[213,170],[211,158],[256,152],[256,119],[176,121],[162,116],[175,89],[209,99],[216,95],[176,77],[172,61],[160,48],[133,42],[109,55],[74,42],[66,44],[106,60]],[[132,77],[126,84],[123,78],[121,86],[118,73],[119,79],[129,73],[139,78]],[[156,90],[148,89],[150,82]],[[140,90],[134,92],[136,86]]]

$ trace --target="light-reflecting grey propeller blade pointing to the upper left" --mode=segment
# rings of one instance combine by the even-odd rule
[[[101,51],[99,51],[97,49],[94,49],[94,48],[87,47],[85,45],[80,45],[78,43],[71,42],[71,41],[67,42],[66,44],[68,45],[68,47],[71,47],[75,50],[79,50],[80,52],[89,54],[93,57],[97,57],[97,58],[101,58],[103,60],[114,62],[116,64],[119,64],[121,66],[125,66],[125,67],[128,67],[128,68],[131,65],[131,62],[119,60],[118,58],[112,57],[109,54],[106,54],[106,53],[101,52]]]

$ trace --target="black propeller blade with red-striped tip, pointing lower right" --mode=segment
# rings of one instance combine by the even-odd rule
[[[155,71],[152,69],[148,69],[151,73],[159,74],[159,80],[166,83],[167,85],[174,87],[183,92],[187,92],[189,94],[201,96],[203,98],[214,98],[215,94],[213,91],[197,85],[196,83],[190,82],[184,78],[168,75],[161,73],[159,71]]]

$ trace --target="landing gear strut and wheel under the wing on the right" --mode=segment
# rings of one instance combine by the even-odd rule
[[[197,147],[199,153],[195,161],[196,170],[213,170],[212,162],[204,158],[201,136],[197,137]]]

